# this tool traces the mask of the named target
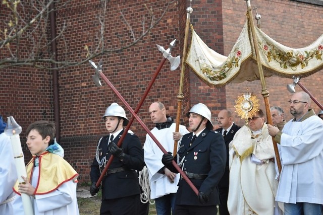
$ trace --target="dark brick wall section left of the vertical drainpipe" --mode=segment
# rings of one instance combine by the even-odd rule
[[[37,3],[36,3],[37,4]],[[32,11],[31,3],[25,3],[25,8],[18,8],[19,16],[23,20],[29,20],[35,15]],[[4,30],[8,23],[13,21],[11,11],[3,4],[0,4],[0,38],[4,38]],[[19,23],[21,20],[19,20]],[[44,25],[44,23],[41,23]],[[25,31],[23,39],[13,41],[9,47],[1,48],[1,60],[11,58],[18,50],[19,58],[27,58],[30,54],[35,54],[39,58],[48,56],[48,50],[42,49],[47,43],[45,32],[41,37],[40,29],[35,29],[36,24],[32,24],[30,29]],[[35,48],[33,44],[37,42],[40,46]],[[46,64],[40,64],[46,65]],[[25,161],[29,161],[31,155],[25,144],[27,126],[37,120],[53,121],[53,94],[51,71],[35,68],[34,66],[13,66],[0,69],[0,114],[7,121],[8,116],[14,116],[16,122],[22,127],[20,134]]]

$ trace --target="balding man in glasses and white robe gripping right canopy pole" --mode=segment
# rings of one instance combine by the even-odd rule
[[[294,116],[283,130],[268,126],[280,144],[282,172],[276,200],[284,202],[285,215],[322,214],[323,121],[310,107],[310,97],[297,92],[290,102]]]

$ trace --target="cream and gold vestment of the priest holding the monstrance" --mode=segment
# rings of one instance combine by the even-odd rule
[[[235,134],[229,151],[230,182],[228,210],[234,215],[273,215],[278,181],[272,137],[264,124],[259,136],[251,138],[247,126]],[[281,212],[281,211],[279,211]]]

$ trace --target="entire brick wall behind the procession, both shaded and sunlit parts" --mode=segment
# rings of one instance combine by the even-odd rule
[[[132,26],[136,36],[142,31],[143,17],[148,19],[148,12],[144,6],[151,9],[156,17],[160,16],[166,6],[164,1],[107,1],[105,14],[104,44],[106,48],[118,48],[120,40],[124,44],[132,40],[128,27],[122,20],[120,11]],[[181,55],[184,45],[184,31],[186,23],[186,8],[190,1],[175,1],[166,16],[156,27],[133,47],[119,53],[106,52],[93,59],[97,63],[103,60],[103,74],[129,103],[132,109],[137,107],[146,87],[151,81],[158,64],[163,57],[156,48],[156,44],[165,48],[175,38],[178,39],[173,49],[173,56]],[[323,8],[304,3],[275,0],[251,1],[256,5],[261,15],[261,29],[278,42],[290,47],[309,45],[322,34],[321,14]],[[100,29],[97,20],[102,10],[100,1],[84,0],[71,1],[69,4],[57,5],[60,8],[56,14],[57,33],[67,25],[65,37],[57,41],[58,58],[80,60],[86,55],[87,45],[93,49],[97,45],[97,33]],[[191,24],[203,41],[213,50],[228,55],[238,38],[246,21],[245,1],[193,1]],[[0,16],[6,20],[7,9],[0,6]],[[4,12],[4,13],[3,13]],[[254,13],[254,12],[253,12]],[[255,13],[254,13],[255,14]],[[149,20],[147,20],[149,21]],[[0,27],[4,28],[4,23]],[[146,26],[147,27],[147,26]],[[47,40],[50,39],[48,31]],[[21,48],[28,51],[28,39],[21,42]],[[65,48],[68,45],[68,49]],[[188,48],[188,47],[187,47]],[[3,50],[2,50],[3,51]],[[24,52],[27,56],[28,52]],[[43,50],[43,54],[50,54],[50,50]],[[1,55],[10,56],[9,52]],[[148,115],[148,107],[154,101],[161,101],[166,105],[168,115],[176,118],[177,94],[180,84],[180,67],[170,71],[170,64],[166,62],[159,76],[149,92],[138,116],[149,129],[153,127]],[[105,108],[113,102],[125,106],[114,92],[101,80],[102,87],[96,87],[91,79],[94,70],[85,62],[79,66],[72,66],[59,70],[59,102],[60,102],[60,130],[61,145],[65,149],[65,158],[80,174],[80,182],[89,180],[90,164],[94,157],[97,140],[105,135],[105,127],[101,116]],[[10,67],[0,70],[0,98],[1,115],[6,119],[13,115],[22,125],[23,132],[33,121],[45,119],[54,120],[52,71],[30,67]],[[320,101],[320,73],[316,73],[301,80],[304,86]],[[267,78],[267,89],[270,92],[271,106],[279,105],[288,112],[286,101],[291,94],[287,92],[286,84],[292,80],[282,78]],[[182,104],[181,123],[187,125],[185,113],[198,103],[205,103],[212,111],[212,121],[223,108],[234,108],[237,96],[246,91],[258,94],[263,108],[259,81],[242,84],[229,84],[221,89],[211,89],[201,82],[186,66],[183,83],[184,100]],[[296,90],[301,90],[296,86]],[[318,111],[313,103],[312,107]],[[126,109],[126,108],[125,108]],[[130,112],[126,109],[128,118]],[[291,117],[287,115],[287,117]],[[238,124],[243,122],[237,117]],[[146,131],[135,120],[133,130],[144,142]],[[25,134],[21,134],[22,144],[25,146]],[[26,161],[30,159],[29,152],[24,147]]]

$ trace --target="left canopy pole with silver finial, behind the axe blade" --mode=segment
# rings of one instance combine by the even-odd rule
[[[191,0],[191,4],[192,4],[192,0]],[[186,9],[187,17],[186,17],[184,45],[183,45],[183,56],[182,56],[182,64],[181,64],[180,87],[179,87],[178,94],[177,94],[177,115],[176,115],[176,127],[175,127],[176,132],[178,132],[179,128],[180,128],[182,102],[183,102],[183,99],[184,99],[184,95],[183,95],[183,82],[184,82],[184,72],[185,72],[184,61],[186,59],[186,46],[187,46],[186,44],[187,44],[187,40],[188,40],[187,38],[188,38],[188,30],[189,30],[189,25],[190,25],[190,16],[191,16],[191,13],[193,12],[193,9],[191,8],[191,4]],[[176,156],[176,153],[177,153],[177,143],[178,143],[178,141],[175,140],[174,141],[174,152],[173,152],[174,157]]]

